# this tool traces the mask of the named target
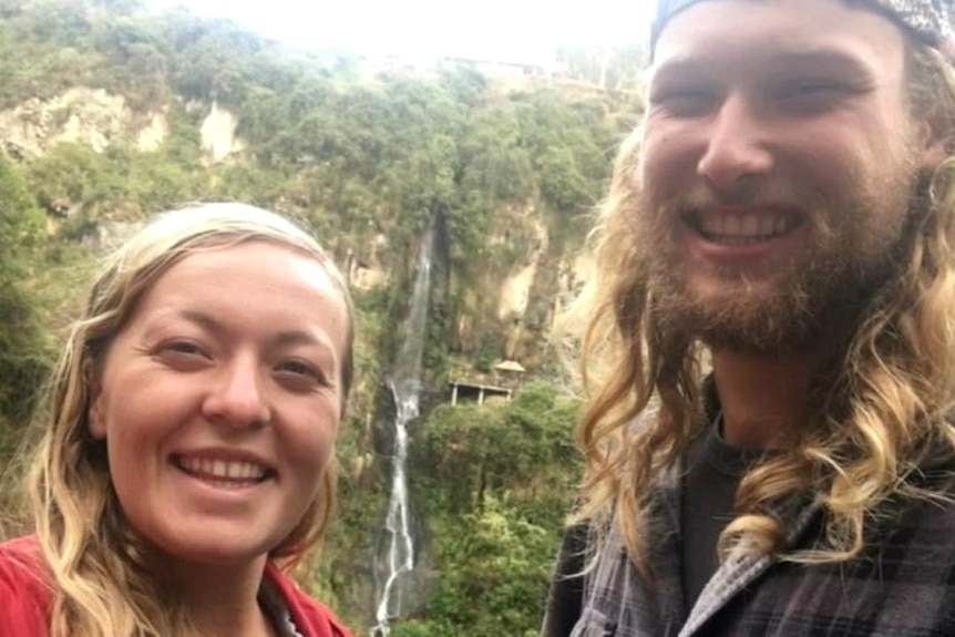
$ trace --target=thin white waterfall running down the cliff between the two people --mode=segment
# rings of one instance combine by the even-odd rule
[[[377,586],[377,625],[372,637],[388,637],[389,619],[402,615],[405,589],[414,569],[414,542],[408,499],[405,461],[408,459],[408,424],[420,413],[421,359],[428,331],[428,305],[431,290],[431,270],[434,250],[434,219],[421,245],[414,274],[414,288],[408,320],[401,330],[401,346],[388,387],[394,402],[393,446],[391,453],[391,495],[376,552],[376,569],[381,573]]]

